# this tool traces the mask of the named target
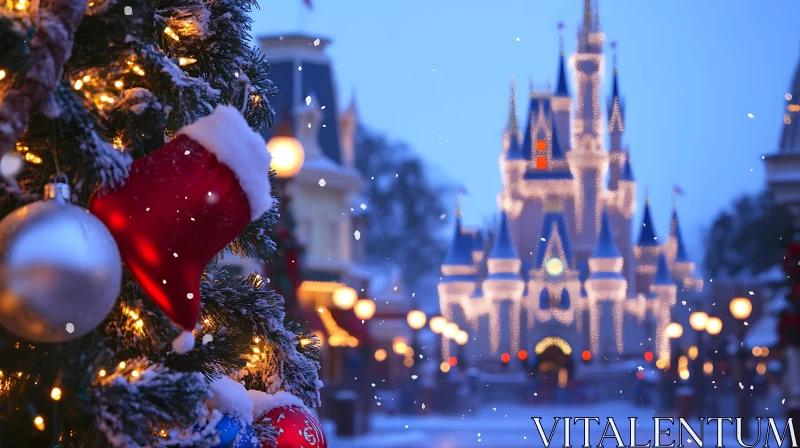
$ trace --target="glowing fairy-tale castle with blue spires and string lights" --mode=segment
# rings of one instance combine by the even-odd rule
[[[470,359],[550,347],[584,359],[647,351],[668,359],[672,307],[679,294],[702,289],[674,203],[667,238],[657,237],[647,199],[632,235],[636,181],[616,68],[605,118],[601,110],[603,39],[586,0],[569,59],[574,93],[562,50],[555,91],[532,90],[519,124],[512,81],[497,228],[464,229],[458,217],[439,284],[442,314],[477,335]]]

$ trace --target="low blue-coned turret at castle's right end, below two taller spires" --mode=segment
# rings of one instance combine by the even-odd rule
[[[658,359],[670,359],[669,339],[667,326],[672,322],[672,307],[677,301],[678,287],[669,273],[667,257],[664,253],[658,255],[653,283],[648,294],[649,305],[656,321],[655,348]]]

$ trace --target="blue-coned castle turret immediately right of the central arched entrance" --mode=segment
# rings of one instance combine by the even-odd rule
[[[628,283],[621,274],[623,258],[614,243],[611,220],[603,211],[597,245],[589,258],[586,295],[589,308],[589,336],[592,354],[608,354],[606,341],[613,340],[618,353],[624,349],[622,323]]]

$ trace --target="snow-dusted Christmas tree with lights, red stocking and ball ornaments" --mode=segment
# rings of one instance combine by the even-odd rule
[[[327,446],[318,341],[216,265],[275,246],[256,6],[0,4],[3,446]]]

